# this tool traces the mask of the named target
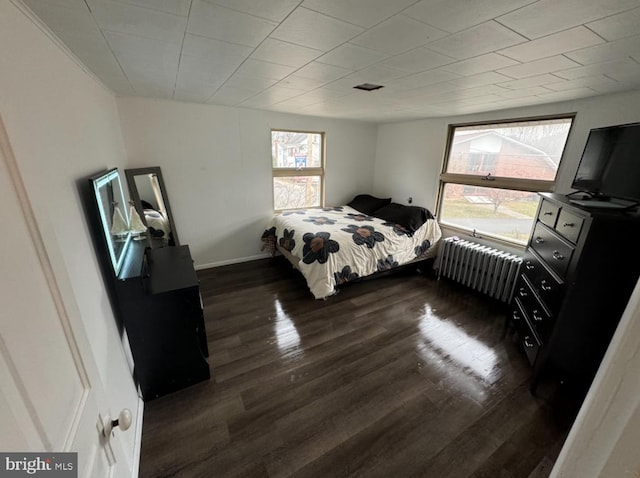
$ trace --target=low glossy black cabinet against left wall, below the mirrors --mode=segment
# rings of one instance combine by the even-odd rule
[[[210,376],[198,278],[189,247],[132,243],[115,298],[145,400]]]

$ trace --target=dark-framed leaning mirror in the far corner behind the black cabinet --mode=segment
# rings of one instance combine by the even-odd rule
[[[148,228],[154,246],[178,246],[178,233],[171,214],[167,189],[159,167],[125,169],[129,194]]]

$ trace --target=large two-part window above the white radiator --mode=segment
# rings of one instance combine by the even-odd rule
[[[551,191],[573,116],[452,125],[440,175],[440,223],[526,244],[539,191]]]

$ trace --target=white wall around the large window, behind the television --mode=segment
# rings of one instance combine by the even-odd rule
[[[640,121],[640,92],[568,101],[492,113],[432,118],[378,127],[374,191],[394,199],[413,196],[435,212],[438,177],[449,124],[577,113],[558,172],[556,191],[571,191],[582,148],[591,128]],[[398,169],[400,173],[398,173]]]

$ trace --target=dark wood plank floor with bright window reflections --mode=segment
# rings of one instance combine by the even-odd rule
[[[567,416],[500,304],[414,271],[316,301],[281,258],[199,276],[212,379],[145,404],[141,477],[548,476]]]

